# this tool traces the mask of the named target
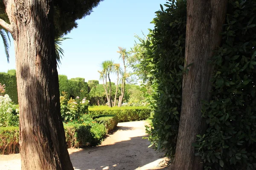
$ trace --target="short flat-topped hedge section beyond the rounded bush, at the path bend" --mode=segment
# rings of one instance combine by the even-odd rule
[[[118,116],[116,115],[93,115],[92,119],[104,125],[107,129],[107,133],[112,131],[118,124]]]

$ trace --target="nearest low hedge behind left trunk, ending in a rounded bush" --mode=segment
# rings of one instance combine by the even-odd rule
[[[96,146],[105,138],[105,125],[91,123],[64,124],[68,148]],[[0,154],[19,153],[19,127],[0,127]]]

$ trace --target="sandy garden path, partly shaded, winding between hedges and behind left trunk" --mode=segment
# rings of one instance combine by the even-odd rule
[[[68,149],[75,170],[158,170],[166,158],[152,148],[145,121],[123,122],[101,145]],[[20,154],[0,155],[0,170],[20,170]]]

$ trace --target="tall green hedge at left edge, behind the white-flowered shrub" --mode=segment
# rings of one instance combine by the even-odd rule
[[[5,94],[8,94],[15,104],[18,104],[16,75],[0,73],[0,83],[5,85]]]

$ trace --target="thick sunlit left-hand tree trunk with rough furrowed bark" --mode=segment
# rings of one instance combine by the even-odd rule
[[[4,0],[15,44],[22,170],[73,170],[60,112],[51,0]]]

